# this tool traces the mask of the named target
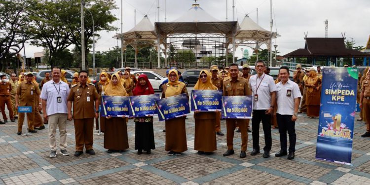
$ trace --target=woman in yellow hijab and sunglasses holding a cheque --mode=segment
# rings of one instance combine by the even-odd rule
[[[194,86],[194,90],[217,90],[211,82],[211,74],[203,70]],[[195,141],[194,149],[198,154],[212,154],[217,149],[216,143],[216,112],[194,112],[195,119]]]

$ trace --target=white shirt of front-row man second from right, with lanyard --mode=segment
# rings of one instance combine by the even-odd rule
[[[258,77],[255,74],[249,78],[249,85],[252,88],[253,101],[255,94],[258,95],[258,101],[253,102],[253,110],[267,110],[271,107],[271,93],[276,91],[274,78],[267,74]]]

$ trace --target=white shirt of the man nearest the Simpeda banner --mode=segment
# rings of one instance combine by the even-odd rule
[[[288,90],[290,90],[290,96],[287,96]],[[281,115],[293,115],[294,99],[300,98],[301,95],[298,85],[294,81],[288,79],[285,84],[281,81],[276,84],[276,97],[278,106],[276,113]]]

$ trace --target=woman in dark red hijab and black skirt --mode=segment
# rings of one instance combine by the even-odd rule
[[[151,86],[148,76],[141,74],[138,78],[138,84],[133,90],[134,96],[154,94],[154,89]],[[153,131],[153,116],[136,117],[135,121],[135,149],[138,154],[142,154],[143,150],[150,154],[151,149],[155,149],[154,131]]]

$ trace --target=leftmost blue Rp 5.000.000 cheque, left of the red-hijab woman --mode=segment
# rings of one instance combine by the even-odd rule
[[[128,96],[102,96],[101,116],[121,117],[129,114]]]

